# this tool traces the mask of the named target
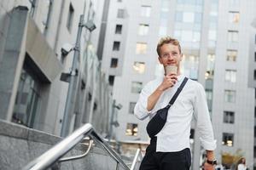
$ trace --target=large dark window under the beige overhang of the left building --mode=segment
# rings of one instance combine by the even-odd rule
[[[26,127],[34,127],[34,122],[40,110],[40,88],[43,83],[38,80],[38,75],[35,75],[37,70],[34,67],[36,66],[27,62],[28,58],[29,56],[26,55],[21,70],[12,122]]]

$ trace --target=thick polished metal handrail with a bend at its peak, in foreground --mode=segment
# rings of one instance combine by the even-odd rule
[[[43,170],[54,165],[56,161],[64,156],[69,150],[72,150],[73,147],[76,144],[79,144],[79,142],[84,139],[84,136],[87,135],[93,137],[93,139],[96,139],[100,144],[102,144],[104,149],[108,151],[109,155],[112,156],[118,164],[123,166],[125,169],[130,170],[130,168],[121,160],[120,156],[109,146],[109,144],[95,132],[90,123],[85,124],[83,127],[79,127],[79,129],[67,136],[67,138],[61,140],[60,143],[55,144],[51,149],[44,152],[43,155],[28,163],[26,167],[22,168],[22,170]]]

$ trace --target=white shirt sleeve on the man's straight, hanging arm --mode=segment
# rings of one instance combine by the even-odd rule
[[[198,83],[199,84],[199,83]],[[207,98],[204,88],[199,84],[195,90],[195,117],[200,134],[201,145],[205,150],[215,150],[216,140],[213,136],[212,122],[207,106]]]

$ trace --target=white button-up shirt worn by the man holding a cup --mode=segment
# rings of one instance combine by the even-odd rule
[[[148,82],[135,105],[135,116],[140,120],[148,116],[151,119],[156,111],[168,105],[177,88],[183,82],[183,78],[183,75],[177,77],[177,83],[160,95],[151,111],[147,111],[148,96],[153,94],[154,90],[160,86],[160,83],[163,82],[163,77],[158,77],[154,81]],[[197,120],[203,148],[205,150],[215,150],[216,140],[213,137],[205,90],[199,82],[189,79],[174,104],[170,107],[165,126],[160,133],[156,134],[156,151],[172,152],[190,148],[189,135],[193,113]]]

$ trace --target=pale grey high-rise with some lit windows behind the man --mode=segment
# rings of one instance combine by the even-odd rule
[[[115,139],[148,141],[147,121],[137,120],[133,107],[143,86],[163,73],[157,42],[172,36],[182,45],[183,74],[206,89],[217,159],[229,167],[224,156],[242,155],[253,168],[255,97],[247,80],[255,6],[253,0],[110,1],[102,69],[113,85],[113,99],[123,105]],[[195,123],[190,138],[197,170],[203,150]]]

